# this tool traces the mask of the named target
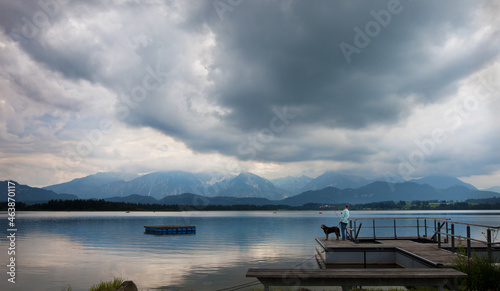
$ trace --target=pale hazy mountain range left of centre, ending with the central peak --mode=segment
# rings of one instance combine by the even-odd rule
[[[110,178],[113,178],[110,180]],[[87,182],[89,178],[91,182]],[[93,184],[93,185],[92,185]],[[232,196],[282,199],[287,190],[255,174],[237,176],[220,173],[189,173],[183,171],[154,172],[130,181],[119,174],[92,175],[70,182],[44,187],[57,193],[72,193],[82,199],[123,197],[132,194],[162,199],[167,196],[192,193],[207,197]]]

